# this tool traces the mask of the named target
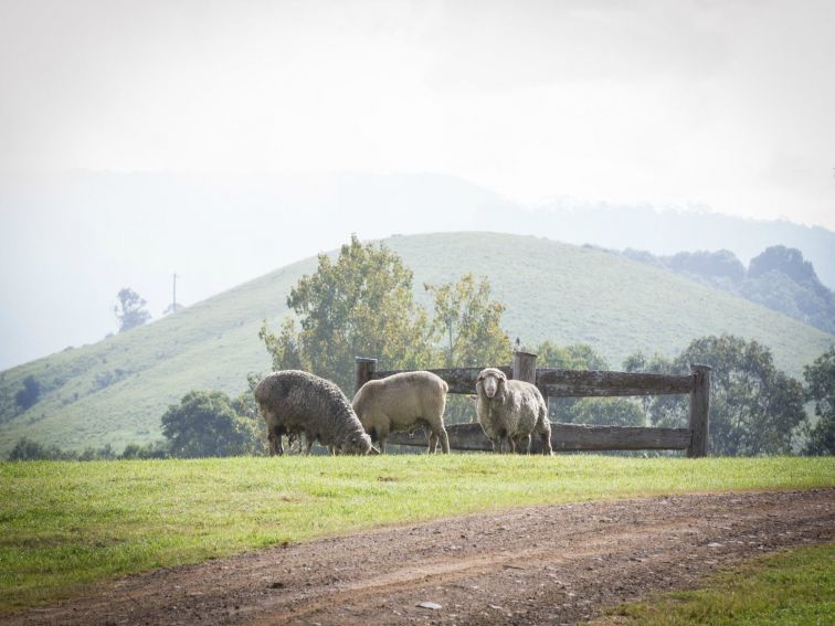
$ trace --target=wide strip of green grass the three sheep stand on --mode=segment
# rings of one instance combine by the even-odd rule
[[[832,458],[492,455],[0,464],[0,611],[104,579],[524,505],[827,487]]]

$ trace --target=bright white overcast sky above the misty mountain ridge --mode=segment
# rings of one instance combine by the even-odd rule
[[[835,230],[834,26],[831,0],[0,0],[0,171],[431,171]]]

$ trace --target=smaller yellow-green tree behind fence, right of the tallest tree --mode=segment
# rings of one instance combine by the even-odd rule
[[[505,305],[490,299],[487,277],[465,274],[457,283],[424,285],[434,296],[433,329],[447,368],[478,368],[510,362],[510,338],[501,329]]]

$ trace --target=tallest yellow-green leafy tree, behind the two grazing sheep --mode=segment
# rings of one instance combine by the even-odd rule
[[[278,335],[266,321],[258,336],[273,368],[303,369],[353,392],[355,357],[373,356],[389,369],[425,368],[432,360],[426,311],[415,305],[412,272],[383,244],[351,235],[336,262],[319,255],[315,274],[290,290],[287,306],[298,316]]]

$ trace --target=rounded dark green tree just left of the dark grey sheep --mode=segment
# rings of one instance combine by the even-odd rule
[[[263,447],[257,422],[235,411],[220,391],[190,391],[168,407],[161,422],[173,457],[235,456]]]

